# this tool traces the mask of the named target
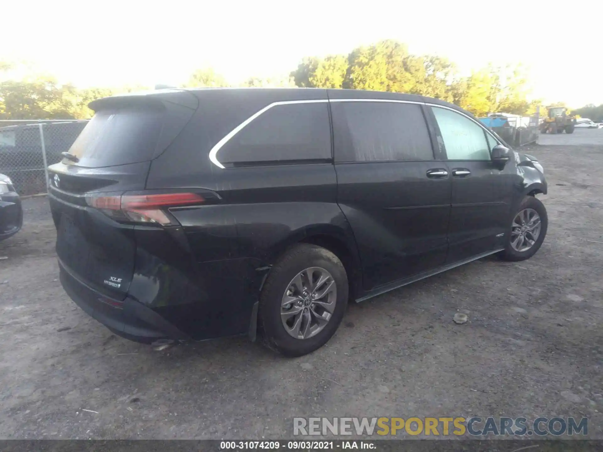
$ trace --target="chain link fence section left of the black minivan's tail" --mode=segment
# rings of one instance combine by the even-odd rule
[[[0,121],[0,173],[21,195],[46,193],[46,168],[61,161],[88,121]]]

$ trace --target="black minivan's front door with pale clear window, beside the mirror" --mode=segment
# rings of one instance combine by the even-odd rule
[[[444,107],[432,106],[431,111],[452,176],[446,263],[502,248],[510,227],[513,174],[491,162],[496,140],[469,116]]]

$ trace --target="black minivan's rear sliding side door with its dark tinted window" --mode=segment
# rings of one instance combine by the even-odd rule
[[[434,159],[421,105],[330,99],[337,201],[358,244],[365,290],[444,264],[446,162]]]

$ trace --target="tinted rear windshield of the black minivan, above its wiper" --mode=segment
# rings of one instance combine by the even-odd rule
[[[153,153],[162,130],[165,110],[120,108],[98,111],[69,153],[79,166],[99,167],[145,162]]]

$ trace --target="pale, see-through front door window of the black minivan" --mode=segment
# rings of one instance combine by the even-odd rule
[[[446,108],[432,107],[449,160],[490,160],[484,129]]]

